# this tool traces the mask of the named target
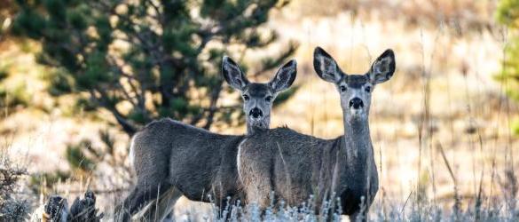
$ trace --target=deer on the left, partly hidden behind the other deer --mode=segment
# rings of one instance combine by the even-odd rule
[[[249,83],[229,57],[222,65],[224,79],[239,90],[248,115],[247,133],[270,125],[272,101],[294,83],[296,62],[291,60],[269,83]],[[171,119],[149,123],[132,139],[130,158],[137,185],[115,209],[115,220],[128,221],[150,202],[138,217],[161,220],[181,195],[198,202],[216,202],[224,209],[226,197],[240,198],[236,156],[245,135],[221,135]],[[208,195],[213,200],[209,199]],[[158,198],[157,198],[158,197]]]

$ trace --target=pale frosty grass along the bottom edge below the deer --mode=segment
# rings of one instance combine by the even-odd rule
[[[382,205],[375,202],[369,212],[369,221],[519,221],[519,210],[511,207],[517,200],[497,198],[488,206],[481,202],[468,204],[460,209],[452,201],[452,207],[444,209],[444,205],[434,202],[392,202]],[[309,201],[311,202],[311,201]],[[302,204],[302,207],[288,207],[284,202],[272,204],[262,213],[255,204],[245,207],[239,204],[223,210],[223,217],[218,217],[218,210],[213,207],[211,212],[202,219],[208,221],[348,221],[341,216],[341,208],[326,202],[319,211],[328,212],[318,215],[312,204]],[[191,212],[188,220],[198,220]],[[362,221],[362,218],[358,218]]]

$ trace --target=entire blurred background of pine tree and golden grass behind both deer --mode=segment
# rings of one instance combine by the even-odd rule
[[[321,46],[349,74],[396,53],[370,114],[375,214],[432,203],[519,218],[518,28],[516,0],[3,0],[0,217],[87,188],[109,211],[133,183],[130,137],[154,119],[244,133],[224,54],[258,82],[297,59],[271,126],[342,135],[338,93],[311,65]],[[208,211],[184,199],[175,213]]]

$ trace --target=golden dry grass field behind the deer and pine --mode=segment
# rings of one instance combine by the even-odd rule
[[[519,161],[514,153],[519,142],[510,123],[519,118],[519,107],[504,94],[507,85],[494,81],[507,44],[506,32],[493,22],[495,3],[316,3],[295,1],[281,12],[274,12],[269,22],[279,30],[283,41],[295,39],[301,45],[295,55],[299,64],[296,84],[301,89],[274,110],[271,125],[287,124],[323,138],[341,135],[338,95],[333,85],[314,75],[313,48],[319,45],[331,52],[347,73],[366,72],[379,53],[392,48],[397,56],[397,73],[374,90],[370,115],[381,180],[371,218],[518,218]],[[5,58],[7,52],[11,53],[0,54]],[[12,66],[34,64],[26,56]],[[46,101],[38,99],[42,98],[41,91],[35,95],[33,100]],[[30,163],[28,170],[35,173],[62,168],[67,142],[95,140],[94,132],[105,127],[91,120],[63,117],[57,110],[24,111],[2,120],[0,131],[13,135],[10,149],[16,151],[17,158],[21,156],[17,159],[20,163]],[[212,131],[240,133],[245,129],[215,127]],[[128,138],[120,135],[118,141],[124,153]],[[59,183],[43,194],[75,197],[86,186],[101,191],[121,184],[107,178],[109,173],[98,172],[95,178]],[[101,208],[110,211],[121,195],[98,196]],[[185,199],[177,203],[175,210],[176,217],[183,220],[204,220],[212,213],[209,204]]]

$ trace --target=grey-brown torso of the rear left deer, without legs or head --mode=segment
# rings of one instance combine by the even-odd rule
[[[149,177],[141,177],[140,181],[162,180],[167,184],[163,188],[175,186],[193,201],[209,202],[211,193],[218,197],[233,196],[237,190],[233,156],[243,138],[212,133],[171,119],[155,121],[133,139],[134,164],[141,166],[135,170],[137,175]]]

